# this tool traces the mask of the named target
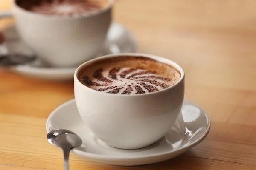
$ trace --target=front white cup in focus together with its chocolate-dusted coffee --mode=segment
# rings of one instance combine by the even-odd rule
[[[129,60],[128,64],[123,64],[122,59],[126,59],[125,57],[131,59],[131,62]],[[113,67],[107,72],[103,69],[102,72],[100,67],[111,68],[112,61],[121,68]],[[121,73],[122,65],[127,66],[129,63],[134,64],[134,68],[123,70]],[[154,71],[137,69],[137,66],[149,70],[154,67],[155,70],[162,71],[162,75],[171,77],[163,78],[154,75]],[[169,66],[172,68],[164,70],[164,67]],[[90,69],[94,68],[97,70],[92,72],[92,77],[96,79],[84,76],[84,72],[90,72]],[[175,74],[169,74],[170,70],[173,72],[172,69],[175,69]],[[173,75],[177,73],[179,77],[175,79]],[[127,82],[124,82],[124,79]],[[169,86],[165,86],[168,83],[165,84],[164,81],[169,80],[173,83],[168,82]],[[132,87],[132,81],[138,84],[135,88]],[[109,85],[111,83],[112,85]],[[124,83],[126,90],[123,88],[120,92],[118,85],[122,86]],[[129,88],[130,92],[127,91]],[[76,69],[74,93],[81,118],[98,139],[112,147],[138,149],[157,142],[175,123],[184,99],[184,71],[171,60],[150,54],[110,54],[87,61]]]

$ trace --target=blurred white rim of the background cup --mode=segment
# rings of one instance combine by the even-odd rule
[[[88,18],[88,17],[92,17],[98,14],[101,14],[105,11],[108,11],[109,9],[111,9],[113,7],[113,4],[115,2],[115,0],[108,0],[108,5],[105,6],[104,8],[100,8],[97,9],[95,11],[90,11],[88,13],[85,14],[76,14],[76,15],[47,15],[47,14],[39,14],[36,12],[32,12],[32,11],[28,11],[26,9],[23,9],[22,7],[17,5],[17,0],[12,1],[13,5],[12,5],[12,11],[16,10],[19,12],[23,12],[26,15],[30,15],[30,16],[37,16],[37,17],[42,17],[45,19],[52,19],[52,20],[69,20],[69,19],[74,19],[74,18]]]

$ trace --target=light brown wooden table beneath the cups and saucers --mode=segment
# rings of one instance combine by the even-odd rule
[[[10,0],[0,1],[0,10]],[[256,1],[117,0],[114,18],[134,32],[139,51],[186,72],[186,99],[207,111],[207,138],[175,159],[140,167],[71,156],[72,170],[256,170]],[[0,28],[12,20],[0,21]],[[46,140],[51,111],[72,99],[73,82],[0,72],[0,170],[62,170]]]

